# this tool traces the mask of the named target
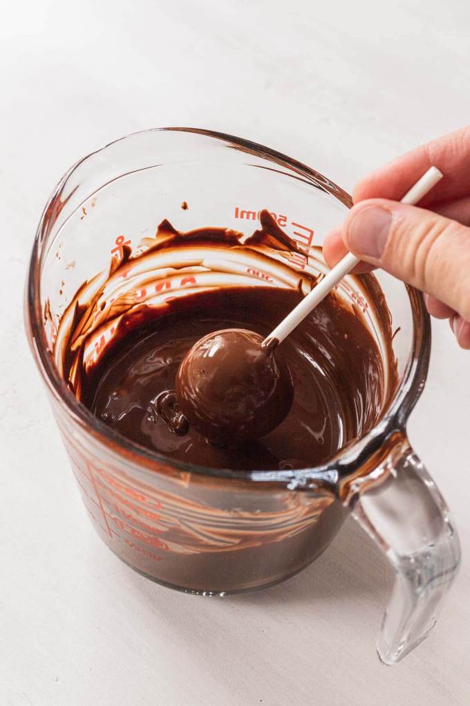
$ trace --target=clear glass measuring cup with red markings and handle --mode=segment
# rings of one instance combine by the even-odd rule
[[[44,210],[27,283],[27,332],[85,507],[123,561],[187,592],[253,590],[311,563],[352,513],[395,569],[378,638],[381,659],[392,664],[426,637],[459,564],[443,498],[405,431],[430,351],[418,292],[378,273],[400,327],[400,384],[373,428],[327,464],[300,471],[208,469],[151,453],[80,405],[51,354],[58,321],[82,282],[106,271],[125,246],[138,251],[163,218],[181,230],[252,232],[259,209],[268,208],[309,247],[322,244],[350,205],[321,174],[246,140],[183,128],[123,138],[70,169]],[[306,266],[291,256],[297,268]],[[341,294],[361,304],[364,292],[347,278]],[[372,308],[364,312],[384,351]]]

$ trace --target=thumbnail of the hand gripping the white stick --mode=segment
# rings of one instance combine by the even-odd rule
[[[359,208],[347,227],[347,244],[354,255],[380,260],[385,249],[392,214],[381,206]]]

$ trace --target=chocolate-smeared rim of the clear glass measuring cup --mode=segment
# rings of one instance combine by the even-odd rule
[[[394,397],[392,398],[388,409],[383,413],[383,417],[378,423],[373,426],[363,436],[348,443],[345,447],[338,451],[327,463],[308,467],[303,469],[292,470],[232,470],[225,468],[211,468],[195,465],[189,462],[175,460],[164,454],[145,448],[130,439],[120,435],[103,421],[94,417],[92,412],[76,400],[75,395],[68,389],[68,386],[59,376],[54,359],[45,337],[44,326],[42,325],[42,306],[40,301],[40,284],[43,260],[44,246],[44,222],[47,220],[51,203],[61,195],[63,187],[66,185],[68,178],[75,172],[75,169],[80,164],[86,162],[94,155],[103,152],[104,150],[116,145],[123,140],[128,140],[133,136],[142,135],[143,133],[159,133],[159,132],[183,132],[192,133],[197,136],[206,136],[220,140],[224,143],[229,143],[229,146],[239,150],[249,150],[254,155],[275,162],[283,167],[295,170],[297,174],[301,174],[308,179],[323,181],[328,183],[335,191],[342,196],[343,203],[352,205],[352,199],[346,191],[340,188],[337,184],[330,181],[323,174],[316,172],[315,169],[308,167],[292,157],[288,157],[281,152],[272,150],[264,145],[259,145],[244,138],[238,138],[226,133],[206,130],[202,128],[187,128],[187,127],[163,127],[151,128],[135,133],[130,133],[126,136],[113,140],[106,144],[103,148],[90,152],[81,160],[73,164],[68,172],[64,174],[58,182],[53,193],[47,201],[44,208],[32,248],[30,259],[30,267],[27,273],[26,282],[26,297],[25,297],[25,317],[29,324],[28,337],[30,337],[30,346],[33,356],[39,368],[42,377],[47,385],[47,388],[52,393],[54,398],[66,409],[71,419],[75,424],[79,424],[82,429],[93,436],[99,443],[103,444],[110,451],[120,457],[126,457],[131,462],[138,464],[141,469],[155,474],[156,472],[164,472],[164,468],[172,467],[179,472],[190,472],[199,476],[212,478],[231,478],[245,481],[264,481],[270,483],[287,484],[287,487],[295,489],[302,488],[309,484],[309,481],[326,483],[330,486],[336,486],[340,479],[347,477],[358,465],[361,466],[366,459],[381,447],[388,436],[396,431],[404,430],[409,414],[412,412],[414,405],[421,395],[423,383],[426,380],[428,371],[429,357],[431,354],[431,321],[424,306],[423,295],[414,287],[403,285],[406,287],[409,297],[410,307],[412,309],[413,319],[413,340],[412,347],[409,353],[409,359],[404,369],[402,381],[398,386]],[[80,208],[80,206],[78,206]],[[46,238],[47,239],[47,238]],[[161,468],[163,466],[163,469]]]

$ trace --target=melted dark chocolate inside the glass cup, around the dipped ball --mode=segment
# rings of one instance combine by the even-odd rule
[[[233,448],[209,443],[194,417],[186,424],[173,390],[191,347],[221,329],[249,329],[264,338],[315,285],[314,271],[299,271],[290,258],[297,251],[305,260],[305,253],[267,212],[261,225],[242,241],[242,234],[225,229],[181,234],[163,222],[144,243],[147,250],[135,258],[125,252],[108,274],[85,283],[63,316],[54,350],[78,399],[132,441],[208,467],[311,467],[371,429],[397,381],[390,317],[373,275],[361,283],[369,285],[383,329],[387,369],[359,306],[332,292],[279,347],[294,395],[291,406],[286,390],[276,397],[279,421],[290,407],[276,428],[272,419],[252,419],[256,431],[271,431]],[[223,381],[216,384],[223,388]],[[224,404],[222,395],[216,425]]]

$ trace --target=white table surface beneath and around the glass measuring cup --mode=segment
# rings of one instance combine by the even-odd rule
[[[245,136],[352,189],[469,121],[464,0],[0,2],[0,704],[468,705],[470,353],[433,325],[409,423],[462,539],[430,638],[386,668],[392,577],[352,521],[297,577],[203,599],[145,580],[87,520],[23,332],[35,227],[82,155],[143,128]]]

